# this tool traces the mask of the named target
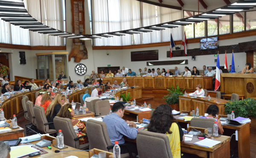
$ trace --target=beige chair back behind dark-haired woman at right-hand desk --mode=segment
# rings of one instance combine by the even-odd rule
[[[214,122],[214,118],[192,118],[190,121],[190,126],[199,128],[212,128]]]

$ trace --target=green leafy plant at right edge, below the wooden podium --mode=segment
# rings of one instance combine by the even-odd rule
[[[255,99],[247,98],[240,101],[228,102],[224,107],[226,114],[230,114],[234,111],[235,117],[256,118]]]

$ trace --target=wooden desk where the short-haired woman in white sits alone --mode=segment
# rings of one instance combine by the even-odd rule
[[[210,101],[207,101],[207,99],[208,97],[197,97],[195,99],[189,96],[179,96],[180,111],[192,111],[195,110],[196,107],[198,107],[199,115],[204,116],[204,113],[206,113],[207,108],[211,104],[216,104],[219,108],[219,115],[226,115],[224,105],[229,101],[217,98],[211,98]]]

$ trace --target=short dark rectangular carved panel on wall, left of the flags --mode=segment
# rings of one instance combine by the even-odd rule
[[[148,61],[148,60],[158,60],[158,50],[131,52],[132,62]]]

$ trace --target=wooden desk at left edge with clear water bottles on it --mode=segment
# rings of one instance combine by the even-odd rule
[[[9,139],[18,139],[20,137],[24,137],[24,129],[23,128],[17,128],[14,130],[6,130],[1,131],[0,130],[0,141],[9,140]]]

